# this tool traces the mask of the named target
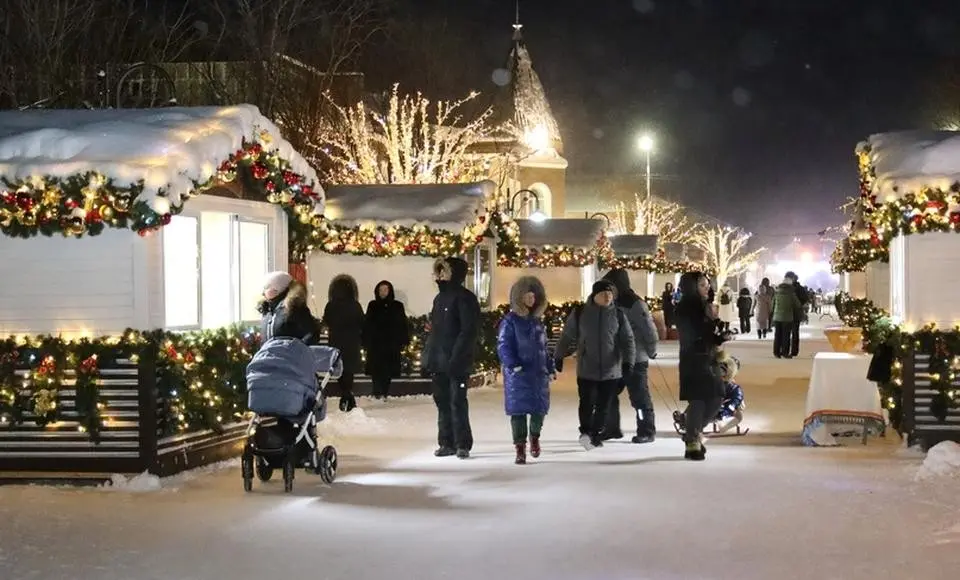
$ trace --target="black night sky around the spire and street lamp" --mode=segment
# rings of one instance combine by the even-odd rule
[[[448,69],[431,82],[492,92],[514,1],[416,4],[443,46],[423,67]],[[521,0],[520,14],[571,175],[642,172],[651,130],[655,193],[769,247],[839,223],[857,142],[931,126],[960,56],[949,0]]]

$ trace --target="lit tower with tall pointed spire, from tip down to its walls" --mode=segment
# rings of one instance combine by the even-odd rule
[[[495,122],[503,123],[510,133],[513,159],[510,189],[534,191],[540,211],[549,217],[562,218],[565,217],[568,165],[563,158],[563,139],[540,77],[533,70],[522,29],[518,8],[505,67],[509,80],[494,102]]]

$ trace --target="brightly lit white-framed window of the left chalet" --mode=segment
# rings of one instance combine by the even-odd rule
[[[272,269],[271,226],[226,212],[181,215],[163,229],[167,328],[220,328],[259,320]]]

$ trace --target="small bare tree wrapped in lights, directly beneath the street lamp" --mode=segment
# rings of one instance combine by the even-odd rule
[[[687,216],[686,208],[679,203],[656,197],[634,194],[631,220],[627,204],[617,206],[616,229],[620,233],[659,236],[659,244],[693,243],[701,225]]]

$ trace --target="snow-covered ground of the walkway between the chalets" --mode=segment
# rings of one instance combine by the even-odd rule
[[[816,335],[817,331],[806,331]],[[544,454],[515,466],[496,389],[471,394],[469,461],[431,454],[428,398],[334,411],[325,436],[340,479],[298,473],[244,494],[236,463],[106,489],[0,488],[0,578],[955,578],[960,461],[895,435],[866,447],[804,448],[811,338],[798,359],[742,340],[743,438],[682,459],[669,408],[675,347],[651,370],[662,437],[584,452],[564,374]],[[660,395],[657,392],[660,392]],[[625,426],[629,414],[624,419]]]

